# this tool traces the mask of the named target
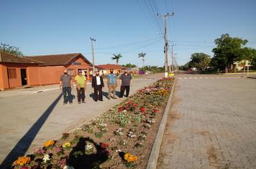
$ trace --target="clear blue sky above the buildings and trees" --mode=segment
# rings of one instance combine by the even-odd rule
[[[248,39],[256,48],[254,0],[0,0],[0,42],[25,55],[81,52],[91,60],[91,40],[96,39],[96,64],[163,66],[163,19],[155,13],[175,13],[168,19],[168,40],[178,64],[191,54],[213,57],[214,39],[221,34]],[[153,11],[152,11],[153,10]],[[170,57],[170,52],[168,53]]]

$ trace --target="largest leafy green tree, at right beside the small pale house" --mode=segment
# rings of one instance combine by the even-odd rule
[[[225,69],[241,56],[241,49],[248,41],[239,37],[230,37],[229,34],[222,34],[214,42],[216,48],[212,49],[214,57],[211,65],[218,69]]]

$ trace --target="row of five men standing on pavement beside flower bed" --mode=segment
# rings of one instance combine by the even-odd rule
[[[118,79],[117,75],[114,74],[114,69],[110,69],[110,74],[106,76],[106,84],[109,88],[108,92],[108,100],[111,99],[111,92],[113,93],[112,98],[117,99],[116,97],[116,87],[118,86]],[[121,75],[120,79],[120,95],[119,97],[124,97],[124,92],[126,92],[125,97],[129,97],[129,90],[130,86],[132,84],[132,76],[127,72],[127,70],[124,71],[124,74]],[[76,81],[76,91],[77,91],[77,98],[78,98],[78,104],[85,103],[85,91],[86,91],[86,77],[83,75],[83,72],[81,70],[78,71],[78,75],[75,77]],[[98,71],[96,71],[96,74],[92,78],[91,87],[93,87],[94,90],[94,100],[97,102],[103,101],[103,94],[102,94],[102,88],[104,87],[104,79],[99,74]],[[68,72],[65,70],[64,74],[60,77],[60,90],[63,91],[63,104],[67,104],[68,102],[70,104],[73,103],[74,96],[71,94],[71,91],[73,90],[73,81],[72,77],[68,74]]]

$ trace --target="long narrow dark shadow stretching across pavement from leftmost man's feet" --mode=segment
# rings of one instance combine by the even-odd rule
[[[14,146],[11,152],[6,156],[4,161],[1,163],[0,168],[9,168],[10,165],[12,165],[12,163],[14,162],[14,160],[17,160],[19,156],[22,156],[27,152],[32,141],[35,139],[35,136],[41,129],[42,125],[44,125],[45,121],[49,117],[54,107],[57,105],[62,95],[63,94],[61,93],[56,98],[56,100],[52,102],[52,104],[47,108],[47,110],[45,110],[45,112],[41,115],[37,122],[35,122],[34,125],[32,125],[32,127],[29,128],[27,133],[19,140],[19,142]]]

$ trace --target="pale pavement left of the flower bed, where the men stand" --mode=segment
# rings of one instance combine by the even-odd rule
[[[152,74],[134,79],[130,95],[161,77],[163,74]],[[63,132],[83,125],[125,100],[107,100],[107,87],[104,87],[104,102],[94,102],[91,98],[93,89],[91,84],[87,84],[85,104],[78,105],[77,100],[74,100],[72,105],[63,105],[58,85],[47,86],[44,89],[48,91],[35,93],[38,89],[35,87],[15,91],[30,92],[26,95],[3,95],[0,92],[0,162],[6,155],[13,159],[15,155],[23,155],[42,147],[46,140],[58,139]],[[116,90],[119,94],[119,87]],[[76,89],[72,92],[76,95]]]

